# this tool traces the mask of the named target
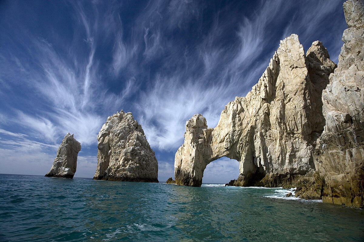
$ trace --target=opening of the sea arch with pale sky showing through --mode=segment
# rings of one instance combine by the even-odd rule
[[[238,179],[239,174],[239,162],[223,156],[207,164],[203,171],[202,183],[226,184],[230,180]]]

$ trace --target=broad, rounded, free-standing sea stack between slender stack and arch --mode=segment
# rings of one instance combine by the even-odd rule
[[[131,112],[107,118],[98,140],[94,180],[158,182],[158,162]]]

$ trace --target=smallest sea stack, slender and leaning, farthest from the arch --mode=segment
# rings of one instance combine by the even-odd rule
[[[81,150],[81,144],[68,133],[64,136],[60,144],[56,159],[54,159],[52,168],[45,176],[73,178],[77,167],[77,155]]]

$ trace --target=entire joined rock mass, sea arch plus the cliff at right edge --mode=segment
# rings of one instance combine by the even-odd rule
[[[252,91],[226,105],[217,127],[207,128],[201,114],[188,120],[176,183],[201,186],[206,165],[226,156],[240,163],[228,185],[297,185],[302,198],[363,207],[363,5],[344,3],[348,29],[337,68],[321,42],[305,55],[292,34]]]

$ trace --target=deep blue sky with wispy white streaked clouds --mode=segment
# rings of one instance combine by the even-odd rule
[[[75,177],[93,177],[97,134],[132,112],[174,177],[186,120],[209,127],[243,97],[280,40],[320,40],[337,63],[347,28],[343,0],[0,0],[0,173],[45,175],[63,137],[80,141]],[[238,162],[209,165],[204,183],[226,183]]]

